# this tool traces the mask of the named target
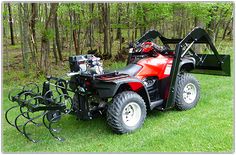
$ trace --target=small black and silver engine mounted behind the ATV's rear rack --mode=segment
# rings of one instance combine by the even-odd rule
[[[71,72],[80,72],[81,74],[103,74],[103,65],[101,58],[94,55],[77,55],[69,57]]]

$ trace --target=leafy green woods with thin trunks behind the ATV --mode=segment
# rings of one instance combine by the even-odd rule
[[[194,27],[213,42],[232,40],[233,3],[2,3],[3,46],[19,45],[25,74],[48,74],[70,55],[96,51],[123,60],[129,42],[149,29],[182,38]],[[9,63],[8,63],[9,65]]]

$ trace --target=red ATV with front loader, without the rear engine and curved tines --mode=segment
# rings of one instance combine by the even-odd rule
[[[163,47],[152,42],[157,37]],[[191,46],[197,43],[208,43],[214,55],[195,53]],[[168,44],[177,46],[170,49]],[[72,72],[78,71],[75,69],[79,68],[77,58],[70,58]],[[201,28],[194,29],[184,39],[167,39],[155,30],[148,31],[130,46],[128,65],[124,69],[71,78],[71,88],[77,90],[75,111],[80,118],[92,118],[91,109],[104,107],[101,109],[107,110],[108,124],[115,132],[132,132],[142,126],[147,110],[174,106],[188,110],[196,106],[200,86],[189,74],[191,71],[229,75],[229,56],[218,55],[208,34]],[[85,91],[82,93],[78,88]]]

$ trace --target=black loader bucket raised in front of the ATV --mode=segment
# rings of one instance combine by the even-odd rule
[[[230,55],[197,54],[192,73],[230,76]]]

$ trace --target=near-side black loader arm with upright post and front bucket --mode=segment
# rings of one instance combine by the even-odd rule
[[[230,76],[230,55],[219,55],[210,36],[202,28],[195,28],[184,39],[167,39],[159,36],[163,44],[176,44],[175,57],[170,73],[169,96],[165,108],[174,106],[176,79],[180,71],[180,62],[183,57],[194,57],[195,66],[192,72]],[[193,44],[207,44],[213,54],[198,54],[191,47]]]

